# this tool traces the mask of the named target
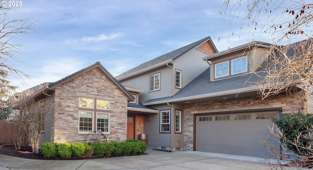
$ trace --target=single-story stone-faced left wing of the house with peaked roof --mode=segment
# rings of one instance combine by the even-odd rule
[[[136,124],[140,124],[145,117],[142,113],[158,111],[138,103],[140,90],[128,89],[99,62],[57,82],[47,83],[29,96],[52,103],[54,108],[45,120],[40,145],[43,142],[83,142],[90,131],[101,131],[108,141],[133,139],[143,132],[143,127],[133,127],[133,132],[128,134],[131,132],[128,125],[134,126],[132,116],[136,115]]]

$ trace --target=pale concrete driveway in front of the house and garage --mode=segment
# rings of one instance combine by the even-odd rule
[[[145,155],[50,161],[0,154],[0,170],[270,170],[263,158],[199,151],[146,150]]]

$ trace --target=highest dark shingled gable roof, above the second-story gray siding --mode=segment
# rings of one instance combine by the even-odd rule
[[[186,46],[183,46],[179,49],[176,49],[174,51],[171,51],[169,53],[166,53],[164,55],[161,55],[159,57],[156,57],[155,59],[152,59],[148,62],[145,62],[143,64],[140,64],[118,76],[116,76],[115,78],[117,80],[123,80],[126,79],[128,77],[134,76],[136,74],[142,73],[144,71],[150,70],[152,68],[156,68],[158,66],[161,65],[165,65],[168,64],[170,62],[173,62],[174,60],[178,59],[180,56],[182,56],[183,54],[187,53],[188,51],[194,49],[195,47],[201,45],[202,43],[205,43],[207,41],[210,41],[210,43],[213,45],[214,49],[216,50],[216,52],[218,51],[217,48],[215,47],[214,43],[211,40],[211,37],[206,37],[202,40],[199,40],[197,42],[188,44]]]

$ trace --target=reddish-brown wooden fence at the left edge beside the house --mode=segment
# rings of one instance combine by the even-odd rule
[[[23,129],[19,129],[18,125],[14,121],[3,121],[0,120],[0,144],[6,144],[6,145],[14,145],[14,139],[12,136],[16,136],[17,134],[22,134],[22,139],[27,140],[27,135],[23,131]],[[22,141],[27,142],[27,141]]]

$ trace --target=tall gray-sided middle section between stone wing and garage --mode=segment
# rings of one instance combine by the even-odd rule
[[[116,79],[124,86],[143,90],[139,93],[139,102],[145,105],[154,99],[174,96],[209,68],[202,58],[216,52],[214,43],[206,37],[140,64]],[[159,110],[159,114],[144,120],[148,145],[157,149],[183,150],[183,105],[165,102],[153,108]]]

